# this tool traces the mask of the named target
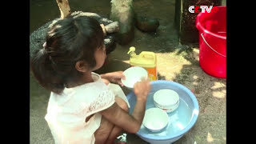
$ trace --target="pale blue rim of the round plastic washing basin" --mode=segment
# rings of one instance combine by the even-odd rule
[[[190,95],[190,97],[192,99],[192,102],[194,103],[194,110],[193,110],[193,113],[192,113],[192,116],[191,116],[192,118],[190,120],[190,123],[183,130],[178,131],[178,133],[173,134],[171,137],[170,136],[156,136],[156,135],[142,134],[142,133],[140,133],[139,130],[136,134],[139,137],[142,137],[142,138],[147,138],[147,139],[152,139],[152,140],[161,140],[161,141],[181,137],[182,135],[186,134],[194,126],[194,124],[198,120],[198,115],[199,115],[199,112],[200,112],[199,111],[198,100],[194,96],[194,94],[191,92],[191,90],[189,90],[186,86],[183,86],[182,84],[180,84],[178,82],[173,82],[173,81],[168,81],[168,80],[157,80],[157,81],[150,82],[151,85],[152,84],[158,84],[158,83],[165,83],[165,84],[169,83],[173,86],[178,86],[179,88],[181,88],[182,90],[185,90],[186,93]],[[134,93],[134,92],[131,91],[130,93]],[[126,98],[129,100],[132,95],[134,95],[134,94],[128,94]]]

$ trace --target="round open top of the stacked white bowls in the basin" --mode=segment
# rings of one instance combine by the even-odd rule
[[[154,102],[160,106],[174,106],[179,101],[179,96],[174,90],[162,89],[154,93]]]

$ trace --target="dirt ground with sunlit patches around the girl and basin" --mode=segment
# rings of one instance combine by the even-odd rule
[[[184,46],[178,42],[174,29],[175,0],[134,1],[134,10],[144,16],[158,18],[160,26],[156,33],[143,33],[135,29],[133,42],[117,45],[108,55],[106,65],[99,73],[126,70],[129,65],[130,46],[136,53],[143,50],[157,54],[158,79],[181,83],[194,92],[199,103],[198,121],[194,127],[175,144],[222,144],[226,143],[226,79],[206,74],[198,62],[198,46]],[[101,10],[97,6],[94,11]],[[105,10],[105,9],[104,9]],[[106,9],[110,10],[110,9]],[[130,91],[123,88],[125,94]],[[44,90],[30,74],[30,143],[54,143],[44,119],[50,92]],[[127,135],[127,144],[147,143],[136,134]]]

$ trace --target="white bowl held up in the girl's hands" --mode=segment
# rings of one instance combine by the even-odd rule
[[[140,66],[132,66],[126,69],[123,74],[126,76],[126,80],[121,79],[121,82],[129,89],[133,89],[134,84],[140,82],[142,78],[147,78],[147,71]]]

